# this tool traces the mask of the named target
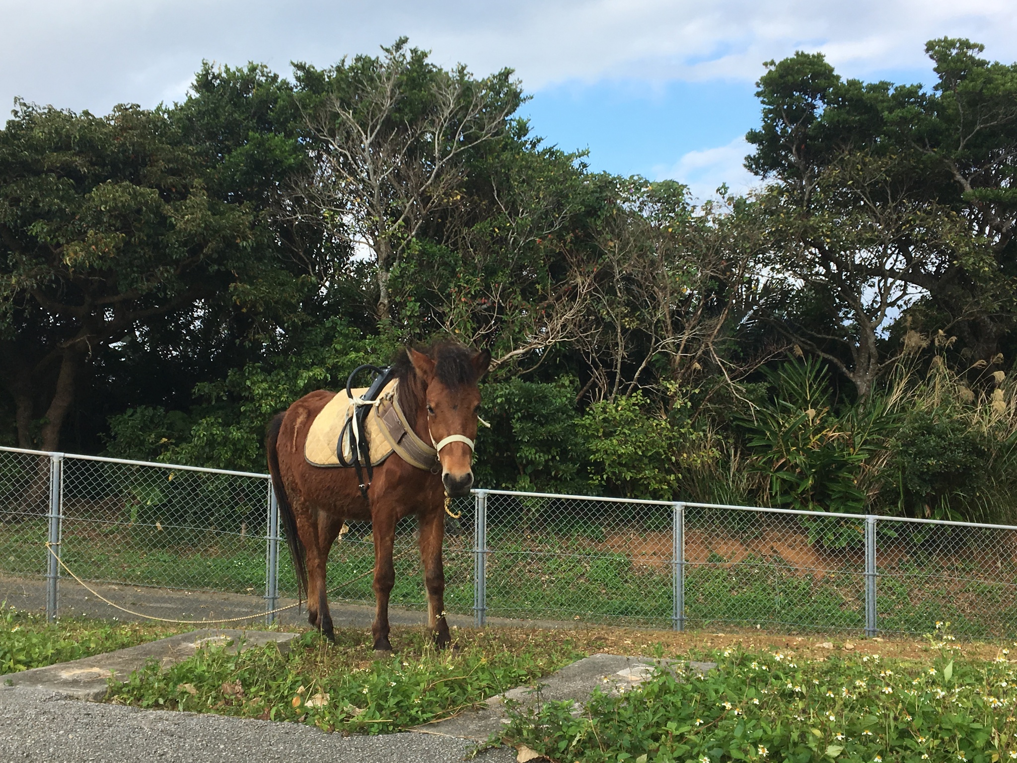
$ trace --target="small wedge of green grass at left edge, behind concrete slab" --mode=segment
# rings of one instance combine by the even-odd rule
[[[65,618],[57,623],[0,603],[0,673],[136,646],[186,629]]]

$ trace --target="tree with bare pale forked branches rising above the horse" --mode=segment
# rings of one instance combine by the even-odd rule
[[[522,102],[510,69],[477,79],[406,42],[382,48],[383,58],[295,71],[314,165],[293,197],[369,248],[382,321],[393,269],[421,228],[460,201],[467,156],[503,134]]]

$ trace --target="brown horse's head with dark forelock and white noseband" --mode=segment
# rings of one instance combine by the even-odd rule
[[[450,495],[465,495],[473,486],[473,445],[477,439],[480,389],[491,353],[461,345],[436,345],[428,353],[409,350],[422,388],[430,439],[438,451],[441,481]]]

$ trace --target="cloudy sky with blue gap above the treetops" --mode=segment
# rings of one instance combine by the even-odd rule
[[[326,66],[400,36],[478,75],[516,70],[533,131],[594,170],[707,197],[754,182],[743,135],[763,62],[821,51],[845,76],[931,83],[923,48],[1017,60],[1014,0],[0,0],[0,107],[106,113],[186,96],[203,59]]]

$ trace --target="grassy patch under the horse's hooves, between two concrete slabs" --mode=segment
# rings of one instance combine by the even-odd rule
[[[459,631],[457,648],[439,652],[422,630],[397,629],[396,652],[375,660],[362,629],[336,636],[330,645],[307,632],[287,653],[213,647],[166,669],[152,663],[111,687],[108,701],[381,733],[456,714],[585,656],[554,633]]]

